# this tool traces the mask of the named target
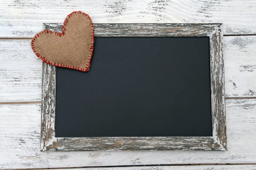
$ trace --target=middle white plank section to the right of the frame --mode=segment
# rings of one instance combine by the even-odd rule
[[[226,97],[256,97],[256,36],[224,37]]]

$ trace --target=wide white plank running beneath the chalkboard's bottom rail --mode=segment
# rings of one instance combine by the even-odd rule
[[[40,152],[41,106],[0,105],[0,168],[256,163],[256,99],[227,99],[228,151]]]

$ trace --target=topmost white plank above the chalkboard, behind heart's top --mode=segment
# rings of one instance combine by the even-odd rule
[[[33,37],[79,10],[93,23],[224,23],[224,34],[256,34],[255,9],[253,0],[2,0],[0,37]]]

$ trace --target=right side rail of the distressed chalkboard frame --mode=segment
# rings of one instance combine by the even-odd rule
[[[221,146],[227,149],[224,59],[222,52],[223,29],[209,35],[210,39],[210,77],[212,105],[212,136]]]

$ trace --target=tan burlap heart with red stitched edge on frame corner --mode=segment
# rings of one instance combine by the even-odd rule
[[[44,30],[35,35],[31,47],[36,56],[51,65],[89,71],[93,55],[94,31],[89,15],[72,12],[62,33]]]

